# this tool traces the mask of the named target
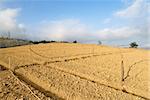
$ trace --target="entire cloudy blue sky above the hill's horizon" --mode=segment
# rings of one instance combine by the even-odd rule
[[[149,0],[0,0],[0,34],[149,46]]]

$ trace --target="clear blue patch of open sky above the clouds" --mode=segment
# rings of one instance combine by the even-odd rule
[[[18,21],[36,24],[41,20],[80,19],[82,22],[98,27],[105,18],[122,7],[117,0],[14,0],[7,2],[7,7],[21,8]]]

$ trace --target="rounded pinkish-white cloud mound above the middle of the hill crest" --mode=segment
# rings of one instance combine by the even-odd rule
[[[38,37],[41,39],[52,40],[88,40],[89,29],[85,24],[82,24],[77,19],[66,19],[59,21],[42,21],[40,26]]]

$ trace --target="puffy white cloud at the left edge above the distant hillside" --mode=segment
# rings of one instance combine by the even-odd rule
[[[0,34],[7,36],[7,32],[11,33],[11,37],[22,38],[25,31],[25,25],[17,22],[20,8],[0,8]]]

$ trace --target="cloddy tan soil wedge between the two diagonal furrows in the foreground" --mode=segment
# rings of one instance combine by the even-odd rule
[[[55,96],[67,100],[142,100],[95,81],[63,72],[49,66],[32,66],[16,70],[18,76],[32,81],[42,88],[52,91]],[[38,88],[38,87],[37,87]]]

